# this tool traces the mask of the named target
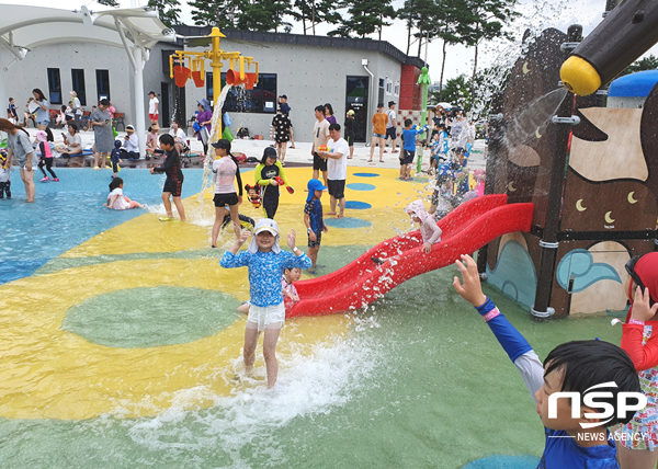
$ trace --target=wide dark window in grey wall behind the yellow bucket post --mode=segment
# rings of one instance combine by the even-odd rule
[[[222,84],[226,83],[226,73],[222,73]],[[206,75],[206,96],[213,102],[213,73]],[[259,73],[253,90],[232,87],[226,95],[224,107],[235,113],[276,113],[276,75]]]

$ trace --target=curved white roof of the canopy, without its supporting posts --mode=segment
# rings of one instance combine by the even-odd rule
[[[121,30],[127,41],[151,48],[160,41],[174,41],[157,11],[145,8],[90,11],[61,10],[0,3],[0,46],[12,54],[59,43],[97,43],[124,47]]]

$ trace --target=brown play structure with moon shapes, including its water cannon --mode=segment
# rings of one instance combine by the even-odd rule
[[[491,241],[479,251],[478,267],[536,317],[625,310],[624,264],[657,249],[658,87],[644,108],[602,107],[604,94],[591,88],[653,45],[656,7],[623,2],[580,46],[580,26],[569,27],[568,35],[544,31],[492,102],[485,194],[532,202],[535,210],[530,232]],[[629,46],[640,27],[654,38]],[[586,59],[598,79],[574,65]],[[560,66],[565,87],[590,95],[560,90]],[[520,118],[536,116],[553,98],[561,103],[542,116],[545,125],[525,126],[523,138],[513,135]]]

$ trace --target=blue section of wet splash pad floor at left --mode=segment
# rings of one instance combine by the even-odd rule
[[[110,228],[145,213],[144,209],[109,210],[111,170],[57,168],[60,182],[41,183],[35,173],[34,204],[25,203],[25,187],[18,171],[11,173],[12,199],[0,199],[2,243],[0,284],[22,278],[63,252]],[[203,172],[183,170],[183,197],[200,192]],[[158,206],[164,175],[148,170],[123,170],[124,194],[143,204]],[[73,209],[71,209],[73,208]],[[147,240],[126,240],[144,242]]]

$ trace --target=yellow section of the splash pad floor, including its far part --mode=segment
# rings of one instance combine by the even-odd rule
[[[242,173],[243,182],[251,183],[252,174]],[[304,188],[311,170],[287,169],[286,174],[296,192],[291,195],[282,191],[275,218],[282,234],[291,229],[297,231],[297,244],[303,248],[303,207],[307,196]],[[327,216],[330,228],[322,245],[373,245],[409,230],[404,207],[416,198],[427,198],[429,181],[402,182],[397,175],[397,170],[350,169],[345,197],[349,206],[356,208],[348,208],[345,218],[339,220]],[[328,194],[324,194],[322,204],[328,213]],[[236,305],[249,298],[247,271],[222,268],[218,259],[224,250],[209,249],[214,221],[209,196],[189,197],[184,205],[189,222],[160,222],[157,213],[137,216],[63,253],[34,275],[0,286],[0,416],[145,416],[169,408],[180,392],[192,388],[201,392],[188,405],[202,408],[212,405],[215,396],[235,393],[254,384],[264,386],[262,379],[252,382],[240,378],[245,318],[230,316],[235,314]],[[240,208],[240,213],[252,218],[264,216],[246,197]],[[232,233],[224,232],[218,244],[227,249],[232,242]],[[322,264],[321,250],[318,260]],[[194,340],[184,343],[149,346],[139,346],[139,338],[129,346],[112,345],[112,338],[109,343],[99,343],[102,341],[77,333],[75,327],[63,327],[76,308],[84,310],[94,301],[103,306],[106,298],[102,312],[112,320],[118,308],[115,301],[124,302],[118,308],[122,311],[129,311],[131,301],[136,305],[135,297],[125,299],[128,290],[150,295],[149,291],[159,294],[168,288],[225,294],[232,302],[218,301],[216,310],[228,314],[229,323],[205,333],[196,331],[196,335],[192,334]],[[160,311],[167,311],[167,304],[158,306]],[[194,305],[190,307],[195,309]],[[171,308],[172,328],[177,308],[181,306]],[[146,317],[152,323],[158,321],[157,317],[149,318],[149,308],[137,313],[139,320]],[[103,316],[97,324],[87,327],[102,329]],[[123,325],[129,332],[131,324]],[[340,340],[350,327],[350,317],[342,314],[291,320],[277,351],[310,353],[314,344]],[[103,331],[97,332],[102,335]],[[141,333],[148,335],[149,331]],[[262,358],[257,366],[263,366]]]

